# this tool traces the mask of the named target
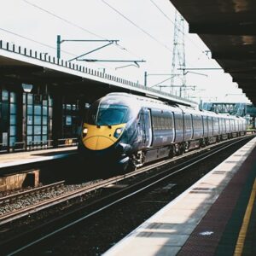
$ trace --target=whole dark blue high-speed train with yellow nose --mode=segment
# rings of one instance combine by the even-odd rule
[[[246,119],[110,93],[90,106],[80,131],[79,153],[84,159],[125,171],[243,136]]]

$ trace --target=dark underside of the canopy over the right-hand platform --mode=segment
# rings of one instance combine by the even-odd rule
[[[170,0],[212,52],[212,58],[230,73],[256,105],[256,1]]]

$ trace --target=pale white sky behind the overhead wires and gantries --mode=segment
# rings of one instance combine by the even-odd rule
[[[74,62],[139,84],[144,84],[147,72],[148,87],[166,85],[161,90],[168,92],[174,21],[175,9],[169,0],[9,0],[0,9],[0,38],[52,56],[56,55],[57,35],[66,40],[119,40],[83,57],[102,61]],[[185,95],[195,102],[249,102],[230,74],[216,69],[220,67],[201,39],[188,31],[185,21],[186,67],[199,69],[185,75]],[[63,42],[61,58],[70,60],[105,44]],[[137,62],[137,67],[133,61],[145,62]],[[201,69],[206,67],[212,70]],[[181,84],[178,77],[175,82]],[[179,89],[173,93],[178,96]]]

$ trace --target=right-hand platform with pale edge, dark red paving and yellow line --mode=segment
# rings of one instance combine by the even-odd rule
[[[256,255],[255,177],[256,137],[103,255]]]

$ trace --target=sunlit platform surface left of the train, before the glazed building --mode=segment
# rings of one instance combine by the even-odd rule
[[[45,160],[66,158],[76,154],[77,146],[63,148],[48,148],[19,153],[0,154],[0,171],[3,168],[20,166]]]

